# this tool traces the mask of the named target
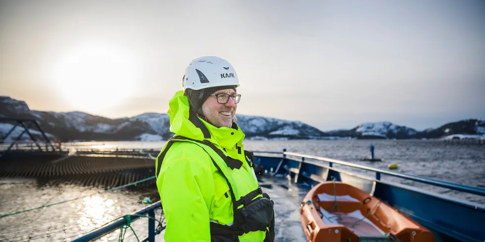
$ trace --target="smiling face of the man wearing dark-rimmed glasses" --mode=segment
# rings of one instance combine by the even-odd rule
[[[226,93],[229,95],[236,94],[234,89],[224,89],[216,91],[212,94]],[[236,114],[238,105],[229,97],[226,104],[217,102],[216,96],[209,96],[202,104],[202,113],[216,127],[231,127],[233,125],[233,118]]]

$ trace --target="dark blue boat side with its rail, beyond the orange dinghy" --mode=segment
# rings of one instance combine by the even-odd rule
[[[283,154],[285,153],[286,152]],[[291,153],[291,155],[298,156],[299,154]],[[263,170],[265,170],[266,174],[287,175],[291,179],[291,182],[294,183],[306,183],[309,186],[313,186],[322,181],[330,181],[332,178],[335,178],[337,181],[354,185],[369,192],[376,198],[387,202],[401,213],[427,227],[435,234],[438,242],[485,241],[485,231],[483,230],[483,226],[481,226],[483,225],[483,221],[485,221],[485,206],[466,200],[445,197],[415,187],[384,182],[380,180],[380,176],[381,174],[389,174],[407,180],[423,182],[481,196],[485,195],[485,189],[404,173],[389,172],[361,165],[348,165],[351,163],[344,161],[325,158],[317,159],[319,161],[329,162],[329,165],[327,166],[317,162],[304,160],[305,158],[310,157],[315,158],[302,155],[302,161],[298,161],[286,158],[284,155],[283,159],[281,157],[256,156],[255,160],[256,163],[261,165]],[[376,172],[376,178],[356,175],[341,169],[333,168],[332,162],[374,171]],[[277,167],[280,168],[278,169]]]

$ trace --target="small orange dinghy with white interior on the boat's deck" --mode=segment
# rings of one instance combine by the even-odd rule
[[[300,204],[309,242],[435,242],[425,227],[345,183],[314,186]]]

